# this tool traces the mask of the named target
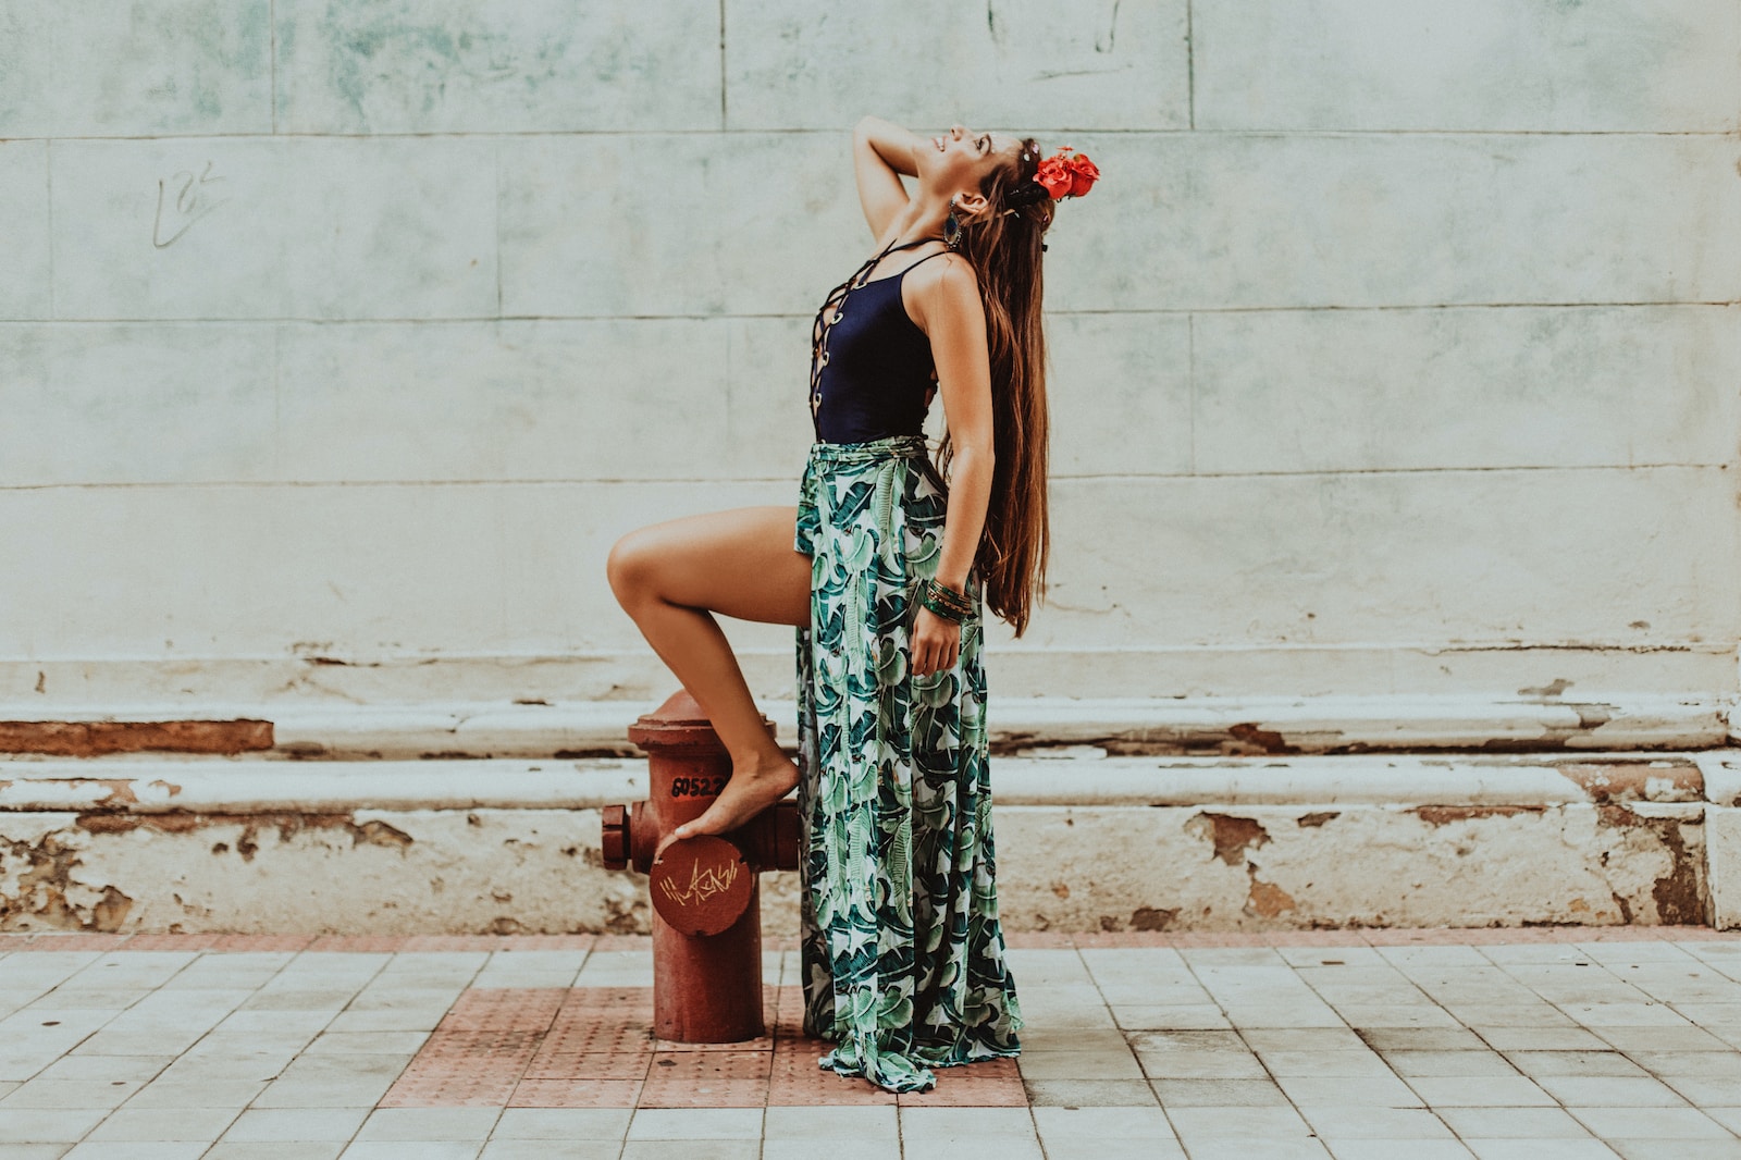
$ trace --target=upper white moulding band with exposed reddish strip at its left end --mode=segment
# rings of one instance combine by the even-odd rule
[[[1525,695],[1527,693],[1527,695]],[[1525,690],[1480,697],[998,698],[996,752],[1097,745],[1123,754],[1553,752],[1708,749],[1731,740],[1718,698]],[[634,756],[629,725],[655,702],[0,704],[0,752],[141,751],[301,759]],[[763,702],[792,742],[796,705]]]

